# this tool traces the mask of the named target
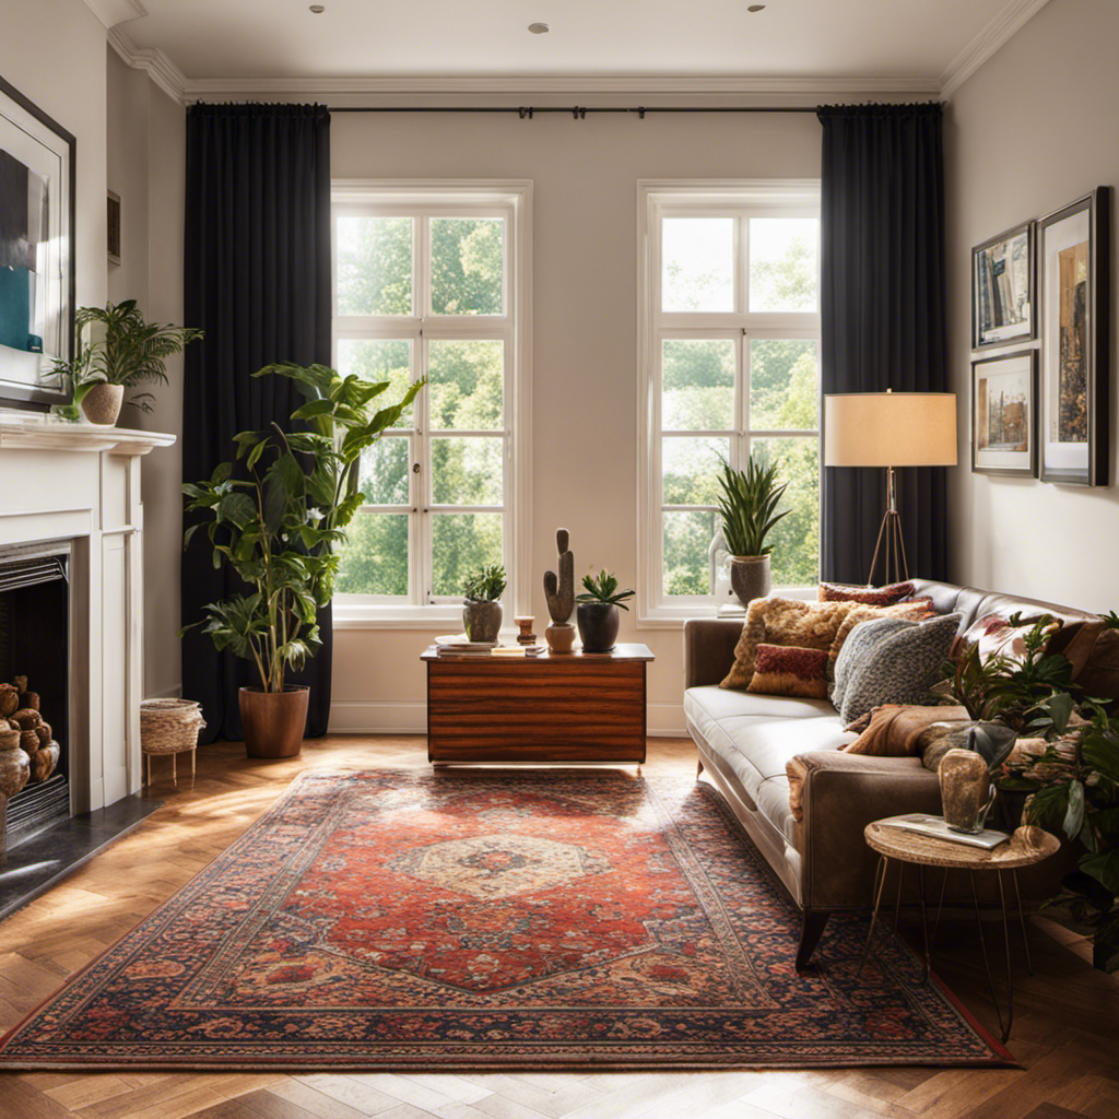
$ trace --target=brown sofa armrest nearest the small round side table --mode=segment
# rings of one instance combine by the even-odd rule
[[[863,830],[886,816],[938,815],[937,774],[927,770],[920,758],[828,751],[801,754],[800,761],[806,770],[801,799],[803,906],[869,909],[878,856],[867,847]]]

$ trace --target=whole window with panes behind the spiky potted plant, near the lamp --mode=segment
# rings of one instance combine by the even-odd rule
[[[716,604],[718,472],[789,482],[773,585],[819,573],[819,188],[641,184],[641,619]],[[718,558],[725,562],[725,554]],[[725,572],[725,567],[724,567]]]

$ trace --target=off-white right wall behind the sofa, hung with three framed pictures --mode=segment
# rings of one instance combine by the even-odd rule
[[[1089,610],[1119,604],[1119,253],[1112,248],[1106,489],[971,473],[969,269],[972,245],[1119,182],[1117,45],[1119,3],[1052,0],[957,91],[946,132],[949,352],[961,403],[961,467],[949,476],[951,577]]]

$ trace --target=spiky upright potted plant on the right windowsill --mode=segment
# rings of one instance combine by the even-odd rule
[[[734,470],[724,462],[718,485],[723,490],[718,498],[723,539],[731,554],[731,586],[746,606],[753,599],[763,599],[772,586],[773,545],[767,544],[765,537],[791,511],[773,511],[789,483],[777,483],[777,463],[763,467],[751,458],[745,470]]]

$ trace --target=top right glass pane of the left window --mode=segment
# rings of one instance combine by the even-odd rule
[[[501,314],[505,220],[431,219],[431,309],[435,314]]]

